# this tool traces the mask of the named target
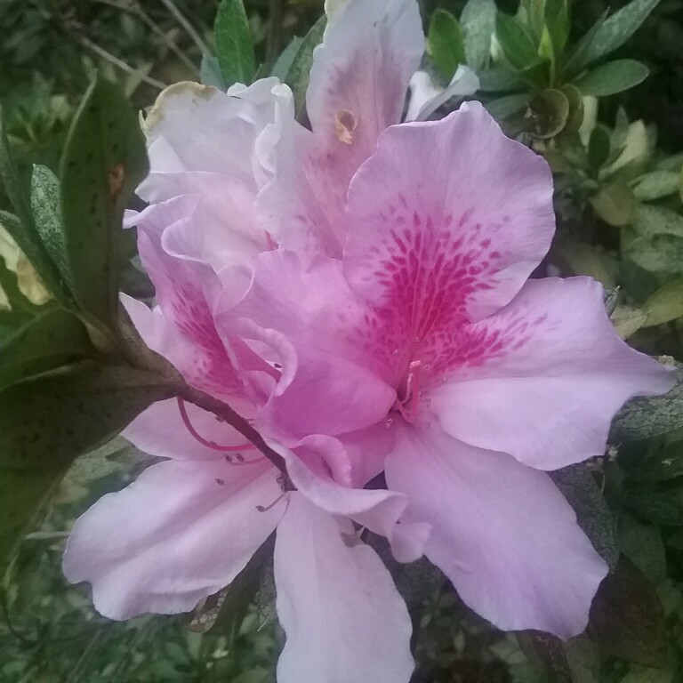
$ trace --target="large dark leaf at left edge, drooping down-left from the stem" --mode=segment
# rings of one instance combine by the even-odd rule
[[[76,456],[173,394],[155,375],[90,362],[0,391],[0,567]]]

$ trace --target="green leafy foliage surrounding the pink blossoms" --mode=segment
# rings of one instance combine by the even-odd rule
[[[140,298],[153,294],[133,244],[115,230],[145,172],[141,141],[130,137],[134,110],[178,80],[225,87],[272,72],[293,87],[305,121],[302,94],[322,34],[321,4],[249,0],[245,12],[241,7],[231,0],[0,4],[3,683],[274,678],[283,638],[267,548],[228,591],[179,617],[110,622],[60,572],[74,519],[149,464],[120,438],[92,446],[141,406],[177,390],[173,372],[141,348],[125,321],[121,326],[112,299],[119,286]],[[571,12],[563,0],[524,0],[521,11],[501,0],[497,9],[493,0],[424,0],[424,68],[441,84],[459,63],[475,68],[477,97],[553,167],[558,237],[539,274],[596,277],[610,292],[607,306],[624,338],[665,362],[680,360],[683,0],[575,0]],[[102,123],[92,118],[101,110],[123,123],[95,141],[89,131]],[[118,165],[125,176],[120,183],[114,176],[112,186]],[[73,191],[84,183],[87,192]],[[81,194],[92,205],[79,204]],[[88,220],[101,238],[76,253],[70,236]],[[87,267],[110,272],[100,290],[84,286],[92,282]],[[106,419],[98,418],[96,434],[67,433],[65,415],[77,425],[89,421],[74,397],[94,386],[109,388],[92,398]],[[32,421],[50,413],[56,396],[62,414],[40,425],[44,451],[32,450],[38,467],[19,462],[21,444],[36,433]],[[382,542],[368,539],[412,609],[415,683],[683,680],[682,404],[680,384],[666,398],[631,402],[603,458],[553,475],[612,568],[589,630],[566,645],[540,633],[495,631],[426,562],[393,565]],[[8,407],[17,405],[27,415],[19,424]]]

